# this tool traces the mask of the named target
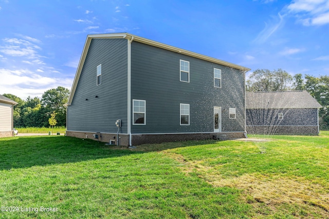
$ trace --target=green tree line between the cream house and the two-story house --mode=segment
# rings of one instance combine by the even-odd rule
[[[14,127],[66,127],[66,107],[69,90],[57,87],[45,91],[42,98],[28,96],[25,100],[13,94],[4,96],[17,102],[13,109]]]

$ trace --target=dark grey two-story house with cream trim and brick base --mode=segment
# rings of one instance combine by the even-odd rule
[[[244,137],[248,70],[129,33],[88,35],[66,134],[125,146]]]

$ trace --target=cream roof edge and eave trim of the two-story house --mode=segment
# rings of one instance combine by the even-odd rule
[[[154,47],[170,50],[170,51],[173,51],[173,52],[177,52],[177,53],[189,55],[189,56],[192,56],[192,57],[204,59],[204,60],[209,61],[209,62],[213,62],[213,63],[221,64],[221,65],[224,65],[224,66],[228,66],[228,67],[231,67],[231,68],[239,69],[239,70],[242,70],[244,72],[247,72],[247,71],[250,70],[249,68],[246,68],[246,67],[243,67],[243,66],[239,66],[239,65],[236,65],[236,64],[233,64],[233,63],[225,62],[225,61],[222,61],[222,60],[217,59],[217,58],[212,58],[212,57],[209,57],[209,56],[206,56],[206,55],[201,55],[201,54],[191,52],[191,51],[188,51],[188,50],[179,49],[177,47],[169,46],[169,45],[166,45],[166,44],[158,43],[156,41],[152,41],[151,39],[143,38],[143,37],[136,36],[136,35],[133,35],[133,34],[130,34],[130,33],[108,33],[108,34],[87,35],[87,39],[86,39],[86,42],[85,42],[84,47],[83,47],[82,55],[80,57],[78,69],[77,69],[77,72],[76,72],[76,75],[75,75],[75,78],[74,78],[74,81],[73,81],[73,84],[72,84],[71,92],[70,92],[70,95],[68,97],[67,105],[70,105],[71,102],[72,102],[72,98],[73,98],[74,93],[76,91],[77,84],[78,84],[78,81],[79,81],[79,78],[80,78],[80,74],[81,74],[81,71],[82,71],[82,68],[83,68],[83,64],[84,64],[84,61],[85,61],[85,58],[87,56],[87,52],[88,52],[88,49],[89,49],[89,46],[90,46],[90,42],[92,42],[92,39],[95,39],[95,38],[98,38],[98,39],[99,38],[108,38],[108,39],[109,38],[123,38],[123,39],[129,40],[130,42],[136,41],[136,42],[139,42],[139,43],[151,45],[151,46],[154,46]]]

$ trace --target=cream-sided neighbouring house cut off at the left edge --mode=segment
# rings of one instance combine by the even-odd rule
[[[13,136],[13,106],[17,103],[0,95],[0,137]]]

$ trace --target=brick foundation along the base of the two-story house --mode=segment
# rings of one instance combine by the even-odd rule
[[[108,143],[109,140],[116,142],[117,133],[75,132],[66,131],[66,136],[88,138],[97,141],[94,134],[98,134],[98,141]],[[120,146],[129,145],[129,135],[119,134]],[[221,132],[221,133],[177,133],[177,134],[132,134],[132,145],[155,144],[162,142],[179,142],[189,140],[218,139],[229,140],[234,138],[245,138],[244,132]]]

